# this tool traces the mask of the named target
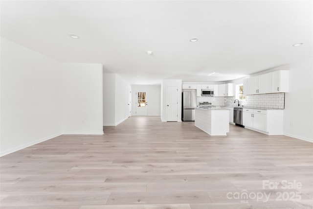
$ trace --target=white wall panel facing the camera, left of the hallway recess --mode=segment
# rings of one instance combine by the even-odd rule
[[[62,131],[103,134],[102,65],[62,64]]]

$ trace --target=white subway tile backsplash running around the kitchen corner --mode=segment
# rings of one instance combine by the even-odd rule
[[[213,96],[201,96],[197,97],[197,105],[200,102],[211,102],[212,105],[216,106],[236,106],[234,103],[235,96],[228,97],[213,97]],[[270,93],[270,94],[257,94],[247,95],[246,101],[240,101],[241,105],[247,107],[259,107],[259,108],[273,108],[273,109],[284,109],[285,108],[285,93]]]

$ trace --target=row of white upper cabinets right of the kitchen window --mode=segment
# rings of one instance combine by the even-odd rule
[[[244,79],[244,94],[286,93],[288,86],[289,71],[279,70]]]

